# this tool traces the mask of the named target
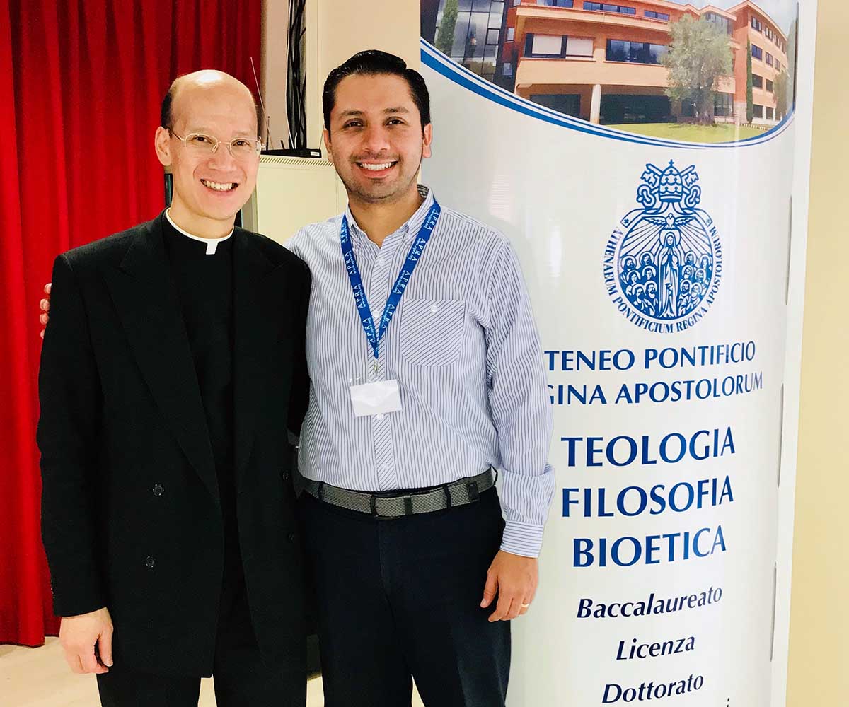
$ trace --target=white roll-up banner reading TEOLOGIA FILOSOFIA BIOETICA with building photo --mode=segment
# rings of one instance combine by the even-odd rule
[[[784,704],[799,11],[618,2],[421,3],[424,182],[511,238],[554,407],[508,702]]]

